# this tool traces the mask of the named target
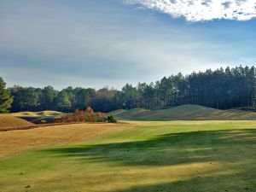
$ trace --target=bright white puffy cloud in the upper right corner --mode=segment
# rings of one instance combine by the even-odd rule
[[[251,20],[256,17],[255,0],[125,0],[189,21]]]

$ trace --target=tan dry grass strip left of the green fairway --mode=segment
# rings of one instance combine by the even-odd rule
[[[30,130],[0,131],[0,157],[28,148],[75,143],[131,124],[74,124],[40,127]]]

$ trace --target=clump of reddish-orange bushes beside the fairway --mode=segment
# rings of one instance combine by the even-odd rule
[[[92,108],[88,107],[84,110],[75,110],[74,113],[67,113],[65,116],[62,116],[61,119],[57,120],[58,123],[73,123],[73,122],[108,122],[108,123],[117,123],[117,120],[114,119],[112,115],[106,117],[105,113],[95,113]]]

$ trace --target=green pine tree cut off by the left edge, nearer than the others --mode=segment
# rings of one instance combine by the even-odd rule
[[[11,108],[13,98],[10,96],[10,91],[5,88],[6,84],[0,78],[0,113],[8,113]]]

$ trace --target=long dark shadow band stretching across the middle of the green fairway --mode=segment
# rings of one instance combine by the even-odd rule
[[[166,166],[193,162],[254,159],[256,130],[192,131],[129,143],[50,148],[48,154],[80,160],[118,161],[128,166]]]

